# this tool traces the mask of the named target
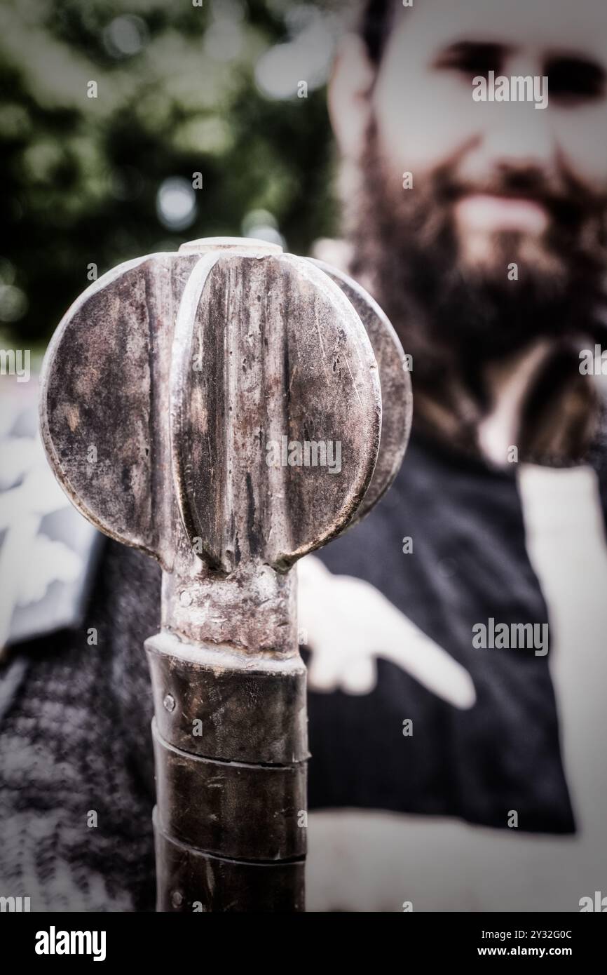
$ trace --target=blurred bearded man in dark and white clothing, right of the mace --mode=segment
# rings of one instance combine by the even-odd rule
[[[571,911],[607,888],[604,433],[581,369],[604,334],[606,79],[599,0],[370,0],[341,46],[350,266],[412,355],[415,418],[385,502],[322,554],[340,574],[300,569],[311,804],[340,810],[311,817],[313,904]]]

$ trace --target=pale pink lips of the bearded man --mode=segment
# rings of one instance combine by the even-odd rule
[[[519,230],[542,234],[550,215],[537,200],[526,196],[506,196],[491,193],[467,193],[455,204],[458,222],[470,230]]]

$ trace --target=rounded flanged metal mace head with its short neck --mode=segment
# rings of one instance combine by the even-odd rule
[[[209,238],[127,261],[74,302],[41,426],[76,507],[162,565],[165,627],[288,652],[287,570],[390,486],[411,400],[398,338],[359,285],[264,241]]]

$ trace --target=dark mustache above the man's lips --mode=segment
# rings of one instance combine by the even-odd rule
[[[465,180],[447,171],[437,171],[436,197],[444,204],[456,203],[470,194],[530,200],[543,206],[553,223],[566,229],[580,226],[588,215],[607,208],[607,196],[592,192],[573,176],[547,174],[537,169],[510,170],[486,179]]]

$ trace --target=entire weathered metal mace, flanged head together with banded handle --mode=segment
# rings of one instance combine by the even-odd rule
[[[159,910],[189,910],[192,884],[205,910],[248,910],[253,890],[269,910],[302,909],[289,861],[305,852],[305,671],[288,568],[387,487],[410,418],[406,377],[372,482],[382,392],[365,326],[388,403],[398,348],[354,283],[262,242],[199,241],[105,275],[47,355],[57,478],[165,569],[163,632],[146,644]]]

